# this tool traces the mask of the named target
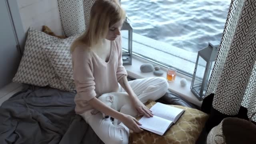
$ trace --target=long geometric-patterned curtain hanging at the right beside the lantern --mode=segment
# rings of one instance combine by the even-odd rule
[[[256,0],[232,0],[206,96],[230,116],[256,112]],[[252,119],[256,121],[256,116]]]

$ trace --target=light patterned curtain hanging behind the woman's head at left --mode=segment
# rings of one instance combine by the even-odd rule
[[[60,20],[66,36],[74,36],[85,30],[94,2],[95,0],[58,0]]]

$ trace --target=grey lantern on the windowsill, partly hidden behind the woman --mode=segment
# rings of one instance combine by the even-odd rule
[[[122,59],[123,65],[132,65],[132,26],[126,17],[121,28],[122,31]]]

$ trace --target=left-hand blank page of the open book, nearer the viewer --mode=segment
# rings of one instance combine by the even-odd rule
[[[158,116],[153,116],[150,118],[143,116],[139,122],[142,124],[140,128],[159,135],[163,135],[164,132],[166,132],[166,130],[172,125],[172,121],[160,118]]]

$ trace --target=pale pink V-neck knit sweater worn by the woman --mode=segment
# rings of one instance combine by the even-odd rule
[[[88,100],[101,94],[118,91],[118,81],[127,72],[122,65],[121,36],[111,42],[110,57],[105,62],[96,53],[77,47],[72,53],[74,81],[76,85],[75,111],[82,114],[92,107]]]

